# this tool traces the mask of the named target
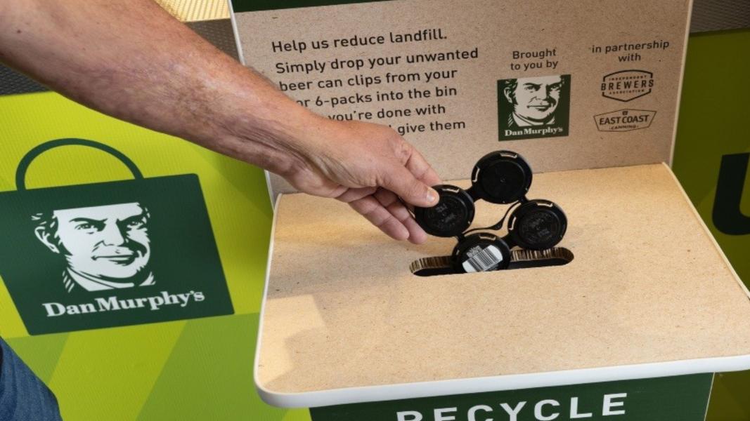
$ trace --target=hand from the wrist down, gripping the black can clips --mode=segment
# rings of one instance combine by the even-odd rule
[[[424,243],[408,205],[437,204],[436,172],[390,127],[318,119],[281,175],[298,190],[347,202],[396,240]],[[403,202],[401,199],[403,199]]]

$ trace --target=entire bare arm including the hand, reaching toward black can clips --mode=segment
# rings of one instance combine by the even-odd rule
[[[401,200],[435,205],[440,178],[398,133],[314,115],[153,0],[0,0],[0,61],[93,109],[348,202],[394,238],[425,240]]]

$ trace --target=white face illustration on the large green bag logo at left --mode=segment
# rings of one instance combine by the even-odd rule
[[[50,249],[65,255],[77,273],[124,282],[148,264],[148,212],[138,203],[54,210],[52,219],[55,239],[45,243],[56,243],[58,249]]]

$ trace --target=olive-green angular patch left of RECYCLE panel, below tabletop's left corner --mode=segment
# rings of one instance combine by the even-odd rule
[[[164,363],[139,420],[281,421],[253,382],[258,315],[190,321]]]

